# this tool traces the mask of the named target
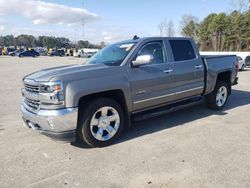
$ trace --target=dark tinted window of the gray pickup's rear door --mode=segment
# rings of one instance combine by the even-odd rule
[[[189,40],[170,40],[175,61],[195,59],[193,46]]]

